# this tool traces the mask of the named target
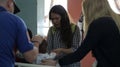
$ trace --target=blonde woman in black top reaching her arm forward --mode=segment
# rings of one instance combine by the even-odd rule
[[[120,17],[110,8],[107,0],[83,0],[86,36],[74,52],[59,59],[60,65],[82,60],[92,50],[97,67],[120,67]],[[118,19],[119,18],[119,19]],[[43,64],[56,61],[44,60]]]

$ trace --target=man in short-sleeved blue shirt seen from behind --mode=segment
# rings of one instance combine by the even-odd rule
[[[13,12],[13,0],[0,0],[0,67],[14,67],[15,47],[28,62],[33,62],[38,53],[29,41],[24,21]]]

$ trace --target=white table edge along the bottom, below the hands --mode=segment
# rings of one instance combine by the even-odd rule
[[[37,65],[37,64],[28,64],[28,63],[15,63],[18,67],[55,67],[55,66],[47,66],[47,65]]]

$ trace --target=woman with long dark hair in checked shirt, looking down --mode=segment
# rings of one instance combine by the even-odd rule
[[[53,26],[50,27],[47,42],[47,51],[57,54],[55,60],[74,52],[80,43],[79,28],[72,24],[67,11],[61,5],[55,5],[49,12],[49,19]],[[80,62],[62,67],[80,67]]]

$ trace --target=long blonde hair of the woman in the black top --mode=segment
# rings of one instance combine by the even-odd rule
[[[89,24],[100,17],[112,17],[120,31],[120,16],[110,8],[107,0],[83,0],[82,10],[84,15],[84,29],[88,30]]]

